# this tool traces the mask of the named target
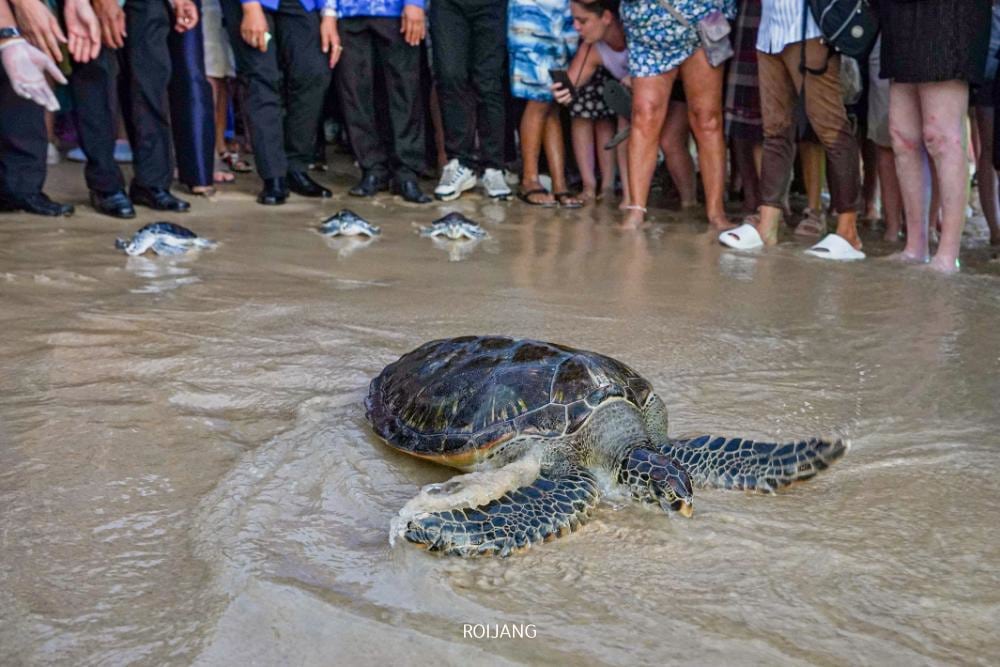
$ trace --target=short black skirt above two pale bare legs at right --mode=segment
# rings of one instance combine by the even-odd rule
[[[883,79],[982,83],[990,0],[881,0]]]

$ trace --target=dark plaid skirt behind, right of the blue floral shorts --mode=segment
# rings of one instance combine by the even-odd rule
[[[760,27],[760,0],[744,0],[733,30],[733,50],[726,73],[726,137],[764,140],[760,111],[760,83],[757,79],[757,28]]]

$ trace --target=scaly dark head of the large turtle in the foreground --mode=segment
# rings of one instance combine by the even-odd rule
[[[618,481],[639,502],[655,503],[664,512],[680,512],[686,517],[694,512],[691,477],[669,456],[643,447],[633,449],[622,461]]]

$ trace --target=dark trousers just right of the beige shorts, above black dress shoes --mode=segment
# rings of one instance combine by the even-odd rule
[[[299,0],[281,0],[276,10],[264,13],[274,37],[261,53],[240,36],[240,0],[222,0],[237,76],[246,91],[257,173],[278,178],[305,171],[312,161],[330,67],[321,50],[317,12],[307,12]]]

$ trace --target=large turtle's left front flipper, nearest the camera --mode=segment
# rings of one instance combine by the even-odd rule
[[[542,467],[530,484],[476,507],[418,512],[398,531],[430,551],[505,557],[586,523],[599,497],[590,471],[573,465]]]

